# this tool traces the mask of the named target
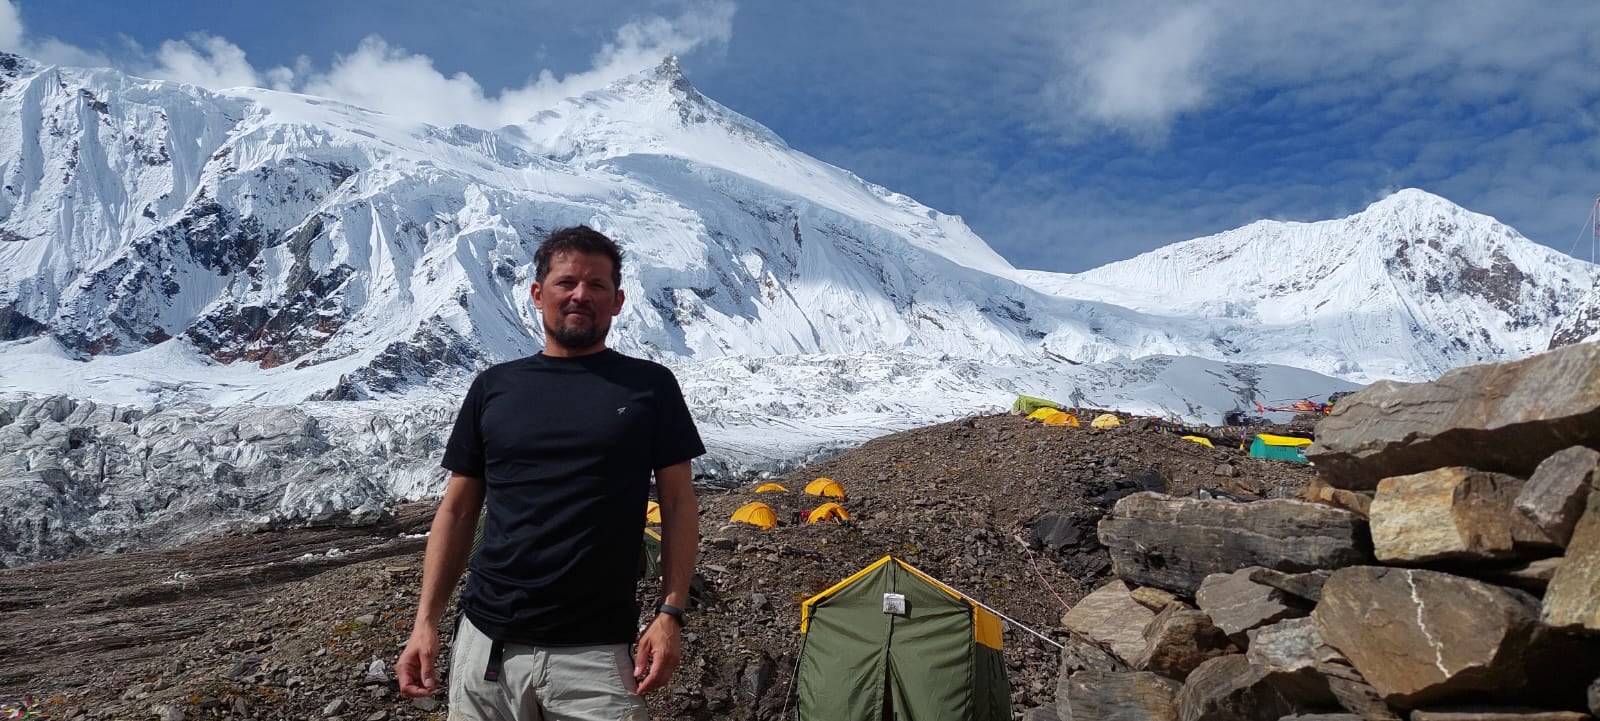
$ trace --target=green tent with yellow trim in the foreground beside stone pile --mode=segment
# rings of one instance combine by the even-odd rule
[[[800,604],[798,721],[1010,721],[1000,628],[883,556]]]

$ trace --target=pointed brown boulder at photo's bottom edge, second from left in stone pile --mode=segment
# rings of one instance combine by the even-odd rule
[[[1195,668],[1178,692],[1182,721],[1277,721],[1309,707],[1285,694],[1242,654],[1219,655]]]

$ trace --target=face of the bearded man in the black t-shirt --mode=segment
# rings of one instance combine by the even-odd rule
[[[611,259],[589,253],[557,253],[533,305],[544,321],[547,355],[584,355],[605,349],[611,318],[622,312],[622,289],[611,283]]]

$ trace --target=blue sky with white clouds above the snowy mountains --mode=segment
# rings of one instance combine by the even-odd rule
[[[1592,0],[0,0],[0,48],[483,126],[675,53],[1042,270],[1402,187],[1565,253],[1600,195]]]

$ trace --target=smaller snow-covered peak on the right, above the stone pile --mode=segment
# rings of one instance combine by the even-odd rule
[[[1413,189],[1338,221],[1261,221],[1032,280],[1205,323],[1224,357],[1365,382],[1544,350],[1600,267]]]

